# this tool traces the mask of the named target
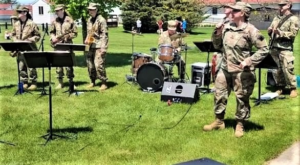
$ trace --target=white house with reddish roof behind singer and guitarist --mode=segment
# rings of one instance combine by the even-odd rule
[[[203,23],[219,23],[221,22],[222,18],[225,17],[224,9],[221,7],[224,4],[233,4],[235,0],[207,0],[205,1],[205,8],[204,8],[204,16],[207,17],[205,20],[203,20]],[[252,14],[250,15],[250,21],[251,24],[254,24],[259,29],[266,29],[271,21],[273,20],[273,17],[276,16],[276,14],[266,14],[267,12],[273,12],[277,13],[278,10],[278,2],[280,0],[244,0],[243,2],[246,2],[250,4],[255,10],[256,15]],[[293,7],[292,7],[292,13],[296,15],[300,15],[300,0],[293,0]],[[253,21],[251,17],[260,15],[262,17],[262,20]],[[300,17],[299,17],[300,18]]]

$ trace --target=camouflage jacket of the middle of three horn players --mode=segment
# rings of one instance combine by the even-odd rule
[[[49,31],[50,40],[56,37],[57,39],[63,38],[58,43],[62,43],[63,40],[65,40],[66,43],[73,43],[72,39],[77,37],[78,33],[74,20],[71,17],[66,16],[65,19],[63,19],[63,22],[61,21],[62,20],[59,17],[56,17],[55,20],[51,23]]]

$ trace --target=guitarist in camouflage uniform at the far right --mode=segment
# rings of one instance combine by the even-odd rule
[[[275,40],[270,48],[270,54],[276,61],[278,67],[276,72],[273,72],[274,79],[279,90],[276,92],[282,94],[282,89],[287,85],[290,90],[290,97],[297,97],[296,90],[297,82],[294,74],[294,59],[293,56],[293,43],[299,30],[298,16],[292,15],[292,4],[289,0],[283,0],[279,4],[280,16],[276,16],[268,28],[268,34],[275,35]],[[282,20],[289,16],[281,27],[277,27]]]

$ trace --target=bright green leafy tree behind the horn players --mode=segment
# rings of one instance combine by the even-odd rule
[[[82,43],[87,36],[87,19],[89,18],[89,11],[87,7],[90,3],[100,4],[99,13],[107,18],[108,14],[112,11],[112,8],[120,5],[119,0],[51,0],[54,9],[57,4],[65,4],[67,6],[67,12],[73,17],[73,19],[80,19],[82,24]]]

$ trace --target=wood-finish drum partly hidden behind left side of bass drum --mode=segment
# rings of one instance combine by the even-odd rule
[[[133,63],[132,63],[132,72],[137,73],[137,70],[145,63],[152,61],[153,58],[151,55],[144,53],[133,53]]]

